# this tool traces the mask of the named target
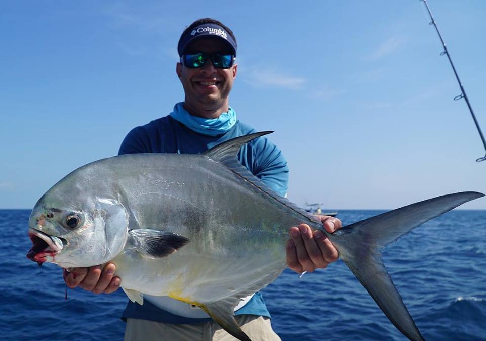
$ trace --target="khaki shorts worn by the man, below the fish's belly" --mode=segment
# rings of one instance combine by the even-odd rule
[[[281,341],[273,331],[268,317],[235,316],[236,322],[252,341]],[[194,324],[169,324],[127,319],[125,341],[233,341],[233,336],[214,321]]]

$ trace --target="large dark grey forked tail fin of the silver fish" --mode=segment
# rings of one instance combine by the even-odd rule
[[[331,235],[339,256],[395,327],[411,340],[423,340],[381,260],[381,249],[413,228],[470,200],[478,192],[448,194],[359,221]]]

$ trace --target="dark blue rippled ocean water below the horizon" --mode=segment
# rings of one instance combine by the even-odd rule
[[[344,224],[381,211],[340,211]],[[25,257],[28,210],[0,210],[0,339],[123,339],[123,291],[68,290]],[[486,211],[455,210],[389,245],[383,260],[427,340],[486,340]],[[263,291],[282,340],[404,339],[342,261]]]

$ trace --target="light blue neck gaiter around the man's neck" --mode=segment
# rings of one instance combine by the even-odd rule
[[[202,118],[189,114],[179,102],[174,106],[171,117],[181,122],[189,129],[203,135],[221,135],[231,129],[236,123],[236,112],[229,107],[229,110],[219,115],[218,118]]]

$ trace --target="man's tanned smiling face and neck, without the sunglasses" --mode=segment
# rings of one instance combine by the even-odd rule
[[[212,38],[195,41],[186,48],[186,52],[229,53],[224,42]],[[194,69],[177,63],[176,71],[184,87],[186,109],[196,115],[215,112],[212,115],[214,117],[227,111],[228,95],[236,78],[236,69],[236,64],[229,69],[215,68],[211,59],[207,60],[202,67]]]

